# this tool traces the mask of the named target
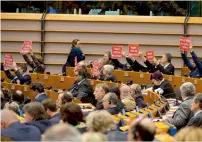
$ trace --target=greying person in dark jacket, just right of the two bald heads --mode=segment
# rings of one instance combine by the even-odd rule
[[[131,95],[135,99],[136,106],[138,106],[139,108],[147,107],[146,103],[144,102],[141,86],[138,84],[132,84],[130,88],[131,88]]]

